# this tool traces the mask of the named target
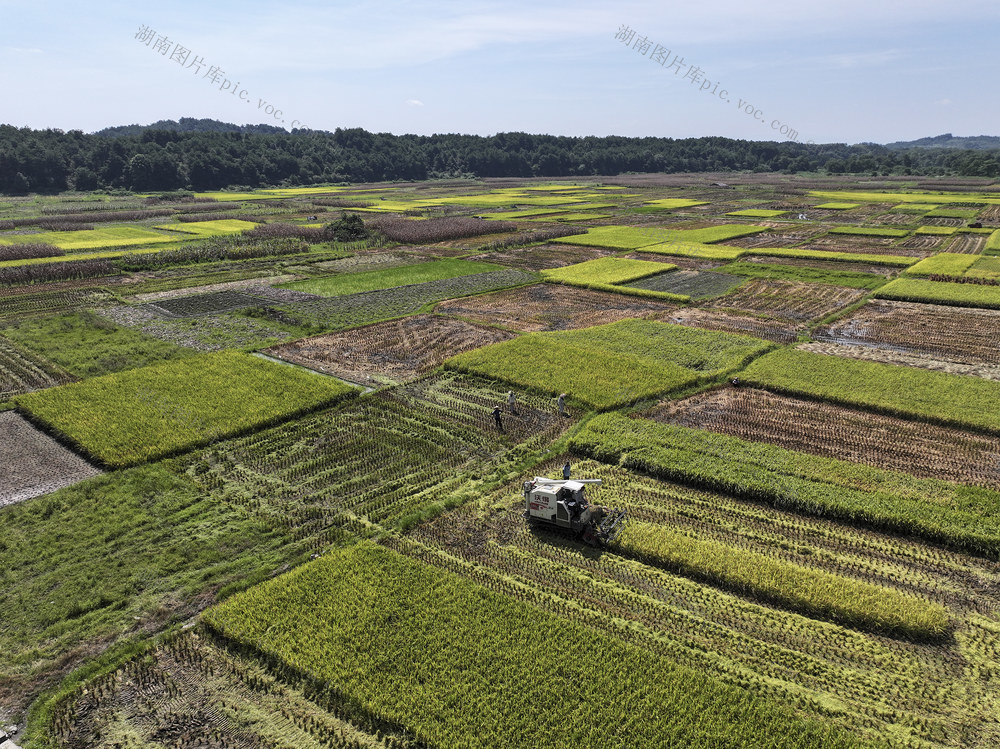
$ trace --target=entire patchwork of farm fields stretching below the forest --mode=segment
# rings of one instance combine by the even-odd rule
[[[1000,745],[998,196],[4,198],[0,728]],[[363,236],[331,238],[343,214]],[[567,463],[611,537],[527,522]]]

